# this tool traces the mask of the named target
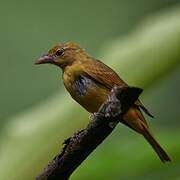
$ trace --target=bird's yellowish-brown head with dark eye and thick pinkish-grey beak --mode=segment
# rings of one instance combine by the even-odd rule
[[[62,69],[73,64],[78,59],[86,56],[84,49],[77,44],[68,42],[65,44],[57,44],[35,61],[35,64],[54,64]]]

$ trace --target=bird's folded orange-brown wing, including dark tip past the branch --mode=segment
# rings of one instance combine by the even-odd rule
[[[108,89],[112,89],[115,85],[128,86],[113,69],[111,69],[99,60],[93,59],[84,63],[83,71],[92,79],[94,79]],[[138,108],[143,110],[147,115],[153,117],[153,115],[145,108],[145,106],[141,103],[140,100],[137,100],[135,102],[135,105],[137,105]]]

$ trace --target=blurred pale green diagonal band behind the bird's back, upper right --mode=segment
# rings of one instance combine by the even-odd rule
[[[129,84],[140,87],[151,85],[149,81],[154,82],[164,76],[179,62],[178,11],[179,7],[163,16],[156,14],[156,18],[146,18],[128,36],[109,42],[103,49],[103,59],[110,59],[107,63],[116,68]],[[143,78],[139,71],[143,72]]]

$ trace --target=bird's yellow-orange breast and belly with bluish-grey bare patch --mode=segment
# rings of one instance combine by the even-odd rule
[[[97,112],[109,94],[109,89],[83,75],[64,74],[64,85],[72,98],[89,112]]]

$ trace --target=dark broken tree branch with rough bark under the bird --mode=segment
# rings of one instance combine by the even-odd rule
[[[73,171],[113,131],[122,116],[138,99],[142,89],[114,87],[106,102],[94,113],[87,127],[64,141],[65,146],[36,180],[68,180]]]

